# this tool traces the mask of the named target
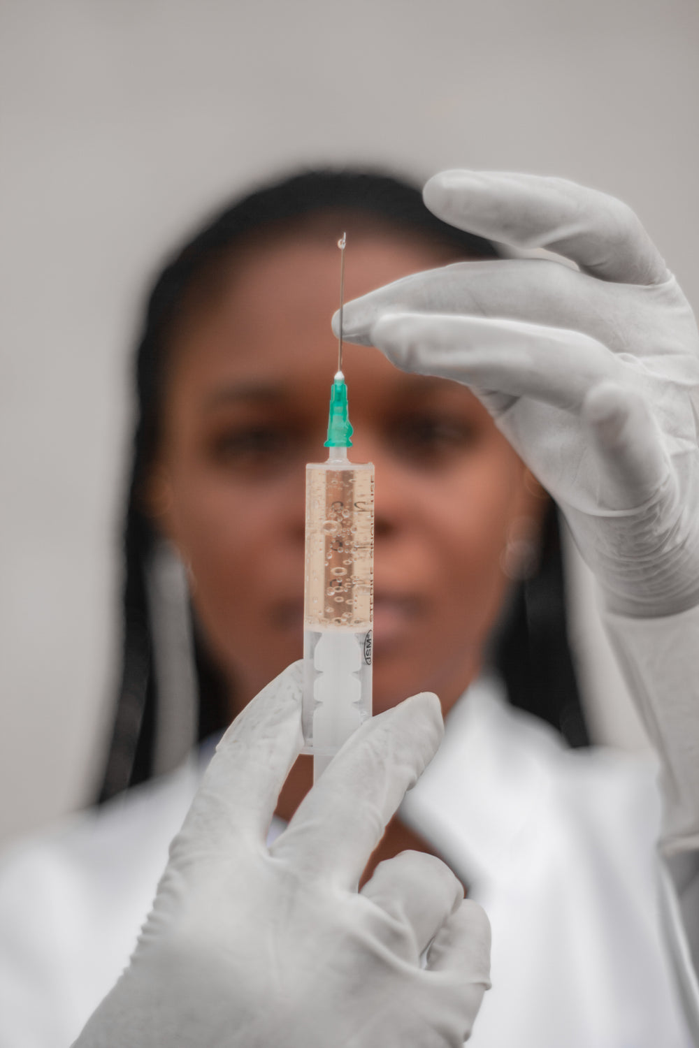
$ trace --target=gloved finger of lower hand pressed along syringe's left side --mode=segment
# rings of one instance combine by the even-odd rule
[[[188,847],[226,849],[231,837],[240,834],[264,840],[302,746],[302,679],[303,662],[293,662],[227,729],[184,821],[181,839]]]

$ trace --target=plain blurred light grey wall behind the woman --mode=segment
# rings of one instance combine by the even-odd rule
[[[167,247],[299,162],[524,170],[628,200],[699,304],[698,45],[695,0],[4,0],[0,836],[89,796]]]

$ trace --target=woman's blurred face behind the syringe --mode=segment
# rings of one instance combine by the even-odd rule
[[[346,297],[445,261],[397,233],[348,237]],[[240,257],[171,348],[152,504],[236,707],[302,654],[305,464],[327,457],[338,272],[332,237],[280,235]],[[344,371],[349,455],[375,465],[374,709],[419,691],[446,709],[497,617],[508,530],[538,500],[465,387],[364,347],[346,347]]]

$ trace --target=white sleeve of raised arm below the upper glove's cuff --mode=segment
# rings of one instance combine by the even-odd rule
[[[606,626],[660,760],[663,920],[699,1045],[699,608]]]

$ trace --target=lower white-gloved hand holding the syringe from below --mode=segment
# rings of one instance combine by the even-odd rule
[[[437,749],[439,702],[417,695],[365,724],[268,850],[302,743],[301,665],[225,734],[131,963],[74,1048],[437,1048],[468,1035],[489,985],[482,910],[417,852],[356,892]]]

